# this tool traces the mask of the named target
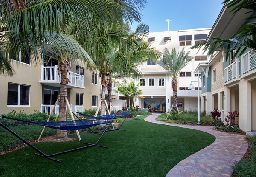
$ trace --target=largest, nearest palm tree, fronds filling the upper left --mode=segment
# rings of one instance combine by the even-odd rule
[[[78,31],[90,29],[90,22],[101,21],[108,25],[140,21],[138,10],[144,8],[143,0],[0,0],[0,74],[12,75],[13,70],[5,53],[32,51],[35,62],[41,62],[42,53],[52,51],[59,58],[61,74],[59,121],[66,118],[67,73],[70,61],[81,59],[87,67],[94,63],[82,47],[73,39]],[[107,8],[102,8],[102,7]],[[76,22],[76,25],[73,25]],[[102,26],[97,26],[100,31]],[[95,29],[95,28],[94,28]],[[84,37],[92,30],[84,31]],[[72,36],[70,36],[72,35]],[[76,38],[77,39],[77,38]],[[81,42],[81,41],[80,41]],[[102,46],[101,46],[102,47]],[[104,48],[101,48],[104,50]],[[44,59],[44,58],[43,58]],[[57,133],[67,137],[65,133]]]

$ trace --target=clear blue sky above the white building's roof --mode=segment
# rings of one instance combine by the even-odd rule
[[[224,0],[148,0],[141,12],[141,22],[149,26],[150,32],[211,28],[221,11]],[[136,29],[138,23],[131,25]]]

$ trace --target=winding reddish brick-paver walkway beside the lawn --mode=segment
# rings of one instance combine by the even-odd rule
[[[190,126],[156,121],[159,114],[152,114],[145,121],[201,130],[216,137],[206,148],[180,161],[166,177],[230,177],[231,166],[241,160],[248,148],[244,135],[212,130],[212,126]]]

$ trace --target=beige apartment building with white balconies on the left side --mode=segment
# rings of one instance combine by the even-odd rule
[[[12,58],[9,56],[9,58]],[[36,111],[49,113],[60,93],[60,76],[57,73],[58,61],[54,58],[44,63],[35,63],[29,55],[20,54],[12,67],[13,77],[0,76],[0,112],[7,113]],[[68,73],[67,98],[73,111],[95,109],[100,103],[100,79],[96,72],[85,69],[83,62],[72,61]],[[112,90],[116,89],[113,87]],[[106,93],[107,94],[107,93]],[[117,97],[113,92],[113,97]],[[59,107],[54,113],[58,114]]]

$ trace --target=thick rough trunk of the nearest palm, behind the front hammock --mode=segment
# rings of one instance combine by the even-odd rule
[[[61,74],[61,85],[60,85],[60,110],[59,110],[59,121],[66,121],[67,117],[67,104],[65,97],[67,96],[67,84],[69,82],[67,73],[70,70],[70,59],[64,62],[58,62],[58,73]],[[57,139],[66,139],[67,131],[57,130]]]

